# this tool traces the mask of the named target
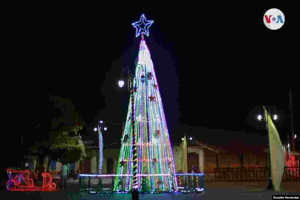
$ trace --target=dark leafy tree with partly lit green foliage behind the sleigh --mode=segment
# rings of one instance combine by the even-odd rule
[[[72,163],[84,157],[84,146],[77,144],[77,133],[82,130],[85,122],[75,112],[70,99],[49,95],[48,110],[39,109],[37,115],[40,120],[35,128],[35,133],[30,148],[38,159],[40,172],[42,171],[46,156],[49,161],[66,161]],[[47,120],[48,119],[48,120]],[[51,121],[51,124],[48,124]],[[46,171],[49,171],[50,162]]]

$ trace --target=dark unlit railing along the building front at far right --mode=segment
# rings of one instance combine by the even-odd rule
[[[211,177],[215,181],[266,181],[268,168],[215,168]],[[282,181],[299,181],[299,167],[285,167]]]

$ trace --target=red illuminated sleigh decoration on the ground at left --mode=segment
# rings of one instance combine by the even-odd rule
[[[12,178],[11,173],[17,174]],[[42,187],[34,186],[33,180],[29,178],[29,174],[30,172],[28,170],[11,171],[10,169],[7,169],[9,180],[6,183],[6,188],[10,191],[49,191],[56,189],[56,184],[52,183],[52,176],[49,173],[42,173]]]

